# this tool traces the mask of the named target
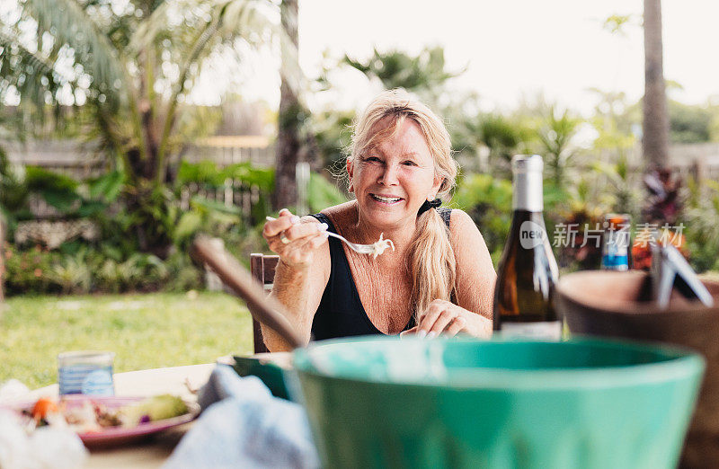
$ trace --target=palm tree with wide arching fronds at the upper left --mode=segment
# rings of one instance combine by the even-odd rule
[[[297,52],[271,0],[20,0],[0,22],[0,102],[14,91],[40,114],[69,100],[90,111],[98,137],[126,174],[124,199],[139,247],[164,253],[176,210],[166,188],[180,163],[190,106],[182,102],[213,54],[274,41],[283,74]],[[33,33],[34,32],[34,33]]]

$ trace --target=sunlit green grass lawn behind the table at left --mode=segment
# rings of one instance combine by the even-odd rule
[[[0,383],[55,383],[67,350],[111,350],[122,372],[210,363],[252,344],[247,308],[223,293],[13,297],[0,313]]]

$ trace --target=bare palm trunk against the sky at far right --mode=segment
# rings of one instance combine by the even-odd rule
[[[669,111],[664,84],[661,0],[644,0],[644,161],[650,169],[669,163]]]

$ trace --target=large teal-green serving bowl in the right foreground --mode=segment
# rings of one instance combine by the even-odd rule
[[[325,467],[674,467],[704,361],[632,342],[322,341],[296,350]]]

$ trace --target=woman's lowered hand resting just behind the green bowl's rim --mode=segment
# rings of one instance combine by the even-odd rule
[[[420,314],[419,323],[400,335],[416,333],[431,339],[439,334],[454,337],[463,332],[475,337],[492,336],[492,321],[446,300],[436,299]]]

